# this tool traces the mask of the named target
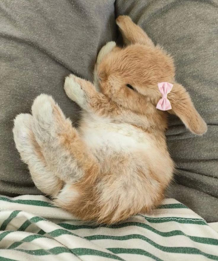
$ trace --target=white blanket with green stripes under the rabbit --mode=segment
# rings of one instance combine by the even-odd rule
[[[151,214],[95,226],[44,196],[0,196],[0,261],[218,260],[218,233],[174,199]]]

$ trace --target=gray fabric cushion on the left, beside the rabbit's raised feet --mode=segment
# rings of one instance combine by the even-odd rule
[[[97,52],[115,39],[114,1],[0,1],[0,193],[39,194],[15,149],[13,119],[40,93],[74,121],[63,90],[70,72],[92,79]]]

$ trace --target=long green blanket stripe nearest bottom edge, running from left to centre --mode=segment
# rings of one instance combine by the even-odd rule
[[[63,246],[57,246],[51,249],[35,249],[35,250],[26,250],[26,249],[15,249],[16,251],[24,252],[26,254],[34,255],[34,256],[44,256],[44,255],[57,255],[61,253],[73,253],[76,256],[81,255],[93,255],[93,256],[100,256],[100,257],[108,257],[115,260],[123,260],[121,257],[118,257],[114,254],[102,252],[95,249],[89,248],[74,248],[74,249],[67,249]]]

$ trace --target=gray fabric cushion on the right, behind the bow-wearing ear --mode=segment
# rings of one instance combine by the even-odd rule
[[[218,221],[218,12],[217,1],[116,1],[117,15],[130,15],[175,59],[176,80],[189,91],[208,124],[202,137],[170,117],[168,147],[177,164],[168,196],[208,222]]]

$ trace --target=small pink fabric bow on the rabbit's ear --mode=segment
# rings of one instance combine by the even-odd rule
[[[162,93],[163,96],[158,101],[158,104],[156,106],[157,109],[159,109],[161,111],[167,111],[172,108],[170,101],[167,99],[167,94],[171,91],[172,87],[173,87],[173,84],[166,82],[166,81],[158,83],[158,89]]]

